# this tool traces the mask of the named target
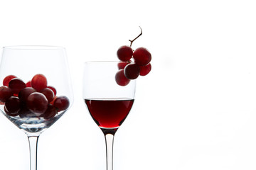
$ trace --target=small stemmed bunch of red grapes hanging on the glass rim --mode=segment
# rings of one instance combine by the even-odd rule
[[[119,71],[115,75],[115,79],[120,86],[126,86],[131,79],[137,79],[139,75],[146,76],[151,71],[151,53],[145,47],[132,50],[131,46],[134,40],[129,40],[130,46],[123,45],[117,50],[117,57],[122,62],[118,64]]]

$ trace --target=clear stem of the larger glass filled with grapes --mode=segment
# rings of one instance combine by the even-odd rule
[[[37,169],[37,145],[39,136],[28,136],[30,152],[30,170]]]

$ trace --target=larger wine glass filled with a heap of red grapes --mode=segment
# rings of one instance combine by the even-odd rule
[[[73,103],[63,47],[4,47],[0,64],[0,110],[28,137],[30,169],[37,169],[41,133]]]

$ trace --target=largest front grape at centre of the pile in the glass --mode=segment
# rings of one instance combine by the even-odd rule
[[[26,106],[33,113],[44,113],[47,109],[48,101],[43,94],[34,92],[28,96]]]

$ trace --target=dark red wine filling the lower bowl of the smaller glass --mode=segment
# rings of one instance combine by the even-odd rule
[[[132,108],[134,99],[85,99],[87,108],[100,128],[118,128]]]

